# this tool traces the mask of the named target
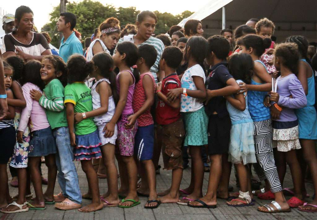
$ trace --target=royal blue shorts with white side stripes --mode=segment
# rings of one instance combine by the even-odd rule
[[[154,124],[138,127],[134,137],[134,155],[139,161],[152,160],[154,148]]]

